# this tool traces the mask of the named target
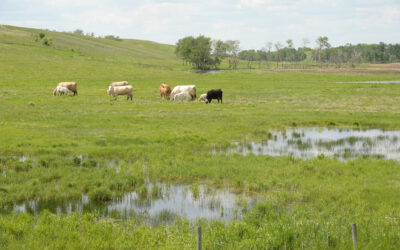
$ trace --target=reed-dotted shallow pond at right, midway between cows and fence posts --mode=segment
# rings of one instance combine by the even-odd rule
[[[297,128],[269,133],[260,143],[235,142],[213,153],[241,153],[310,159],[321,154],[341,160],[372,157],[400,161],[400,131]]]

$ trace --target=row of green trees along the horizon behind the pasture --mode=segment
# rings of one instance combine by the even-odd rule
[[[303,39],[303,46],[294,48],[293,40],[288,39],[286,46],[277,42],[268,42],[260,50],[240,51],[239,41],[211,40],[205,36],[197,38],[188,36],[176,43],[175,54],[184,63],[190,63],[197,69],[217,68],[221,61],[228,59],[229,68],[236,69],[239,60],[247,61],[248,68],[253,62],[304,62],[311,61],[333,63],[341,67],[343,63],[389,63],[400,62],[400,44],[346,44],[332,47],[328,37],[321,36],[316,40],[317,46],[310,48],[308,39]]]

